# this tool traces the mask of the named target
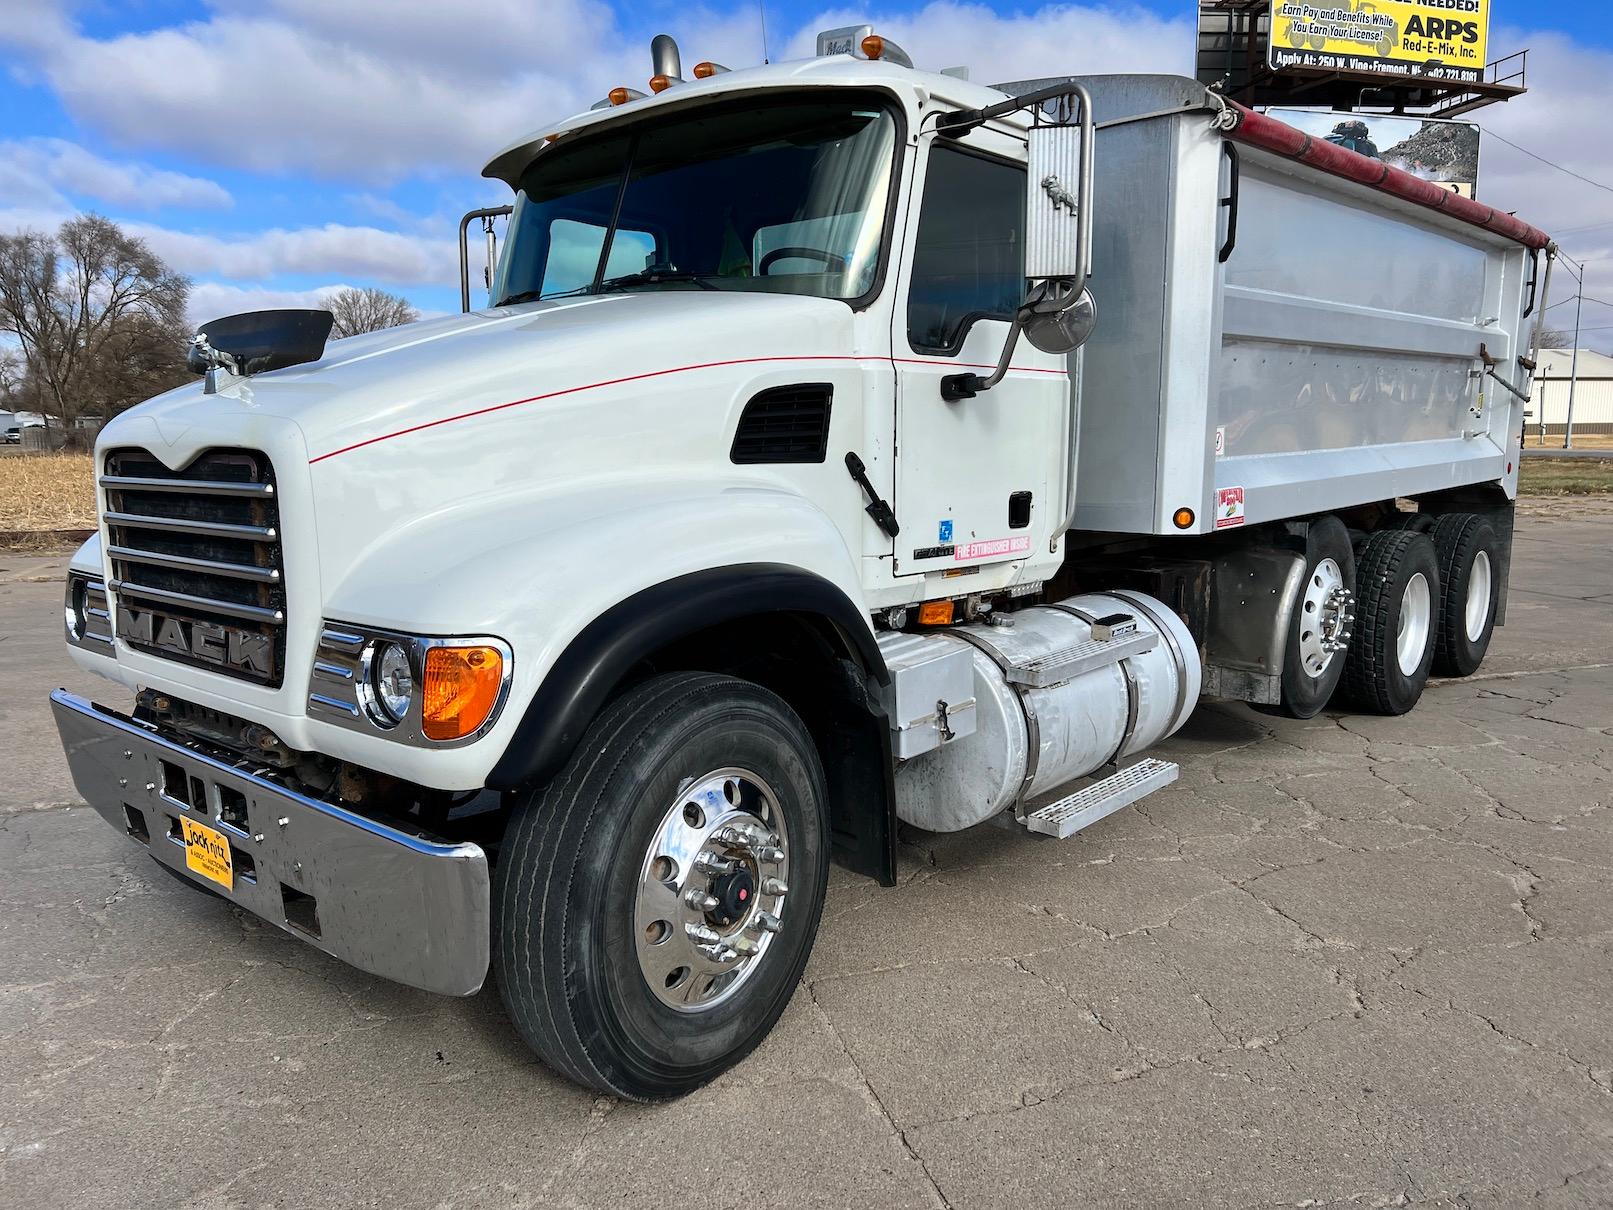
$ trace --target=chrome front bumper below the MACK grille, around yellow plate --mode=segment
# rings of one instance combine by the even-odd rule
[[[65,689],[50,705],[79,794],[163,865],[358,970],[445,995],[481,989],[490,929],[479,845],[305,799]],[[229,891],[185,868],[182,818],[229,837]]]

